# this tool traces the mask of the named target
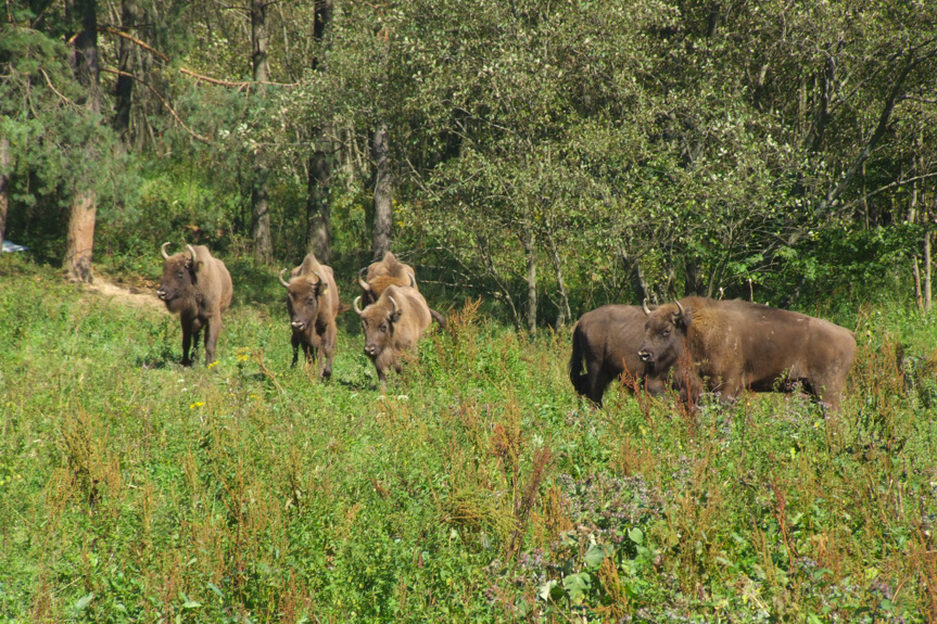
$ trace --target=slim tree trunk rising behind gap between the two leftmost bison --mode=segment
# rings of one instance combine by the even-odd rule
[[[255,82],[269,79],[270,63],[267,59],[267,0],[251,0],[251,64]],[[259,87],[263,95],[264,87]],[[270,234],[270,202],[267,193],[266,167],[254,155],[254,184],[251,190],[251,206],[254,218],[254,257],[269,264],[274,259],[274,243]]]

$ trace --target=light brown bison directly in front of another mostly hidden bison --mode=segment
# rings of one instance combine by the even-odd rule
[[[413,347],[432,322],[430,308],[423,296],[409,286],[390,285],[381,296],[362,309],[356,297],[352,304],[362,317],[365,334],[365,355],[378,371],[381,384],[387,383],[388,369],[401,372],[401,354]]]

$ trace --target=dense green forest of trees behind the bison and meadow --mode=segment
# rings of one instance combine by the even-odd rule
[[[684,294],[930,302],[937,8],[8,2],[0,235],[421,282],[518,326]],[[453,294],[455,293],[455,294]]]

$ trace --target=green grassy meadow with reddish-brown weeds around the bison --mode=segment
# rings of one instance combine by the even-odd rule
[[[289,367],[273,272],[182,368],[162,305],[11,255],[2,622],[937,622],[937,316],[827,314],[860,344],[835,416],[594,410],[569,330],[478,302],[382,392],[354,313],[329,383]]]

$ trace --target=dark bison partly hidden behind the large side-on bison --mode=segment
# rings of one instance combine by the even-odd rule
[[[625,370],[643,379],[651,394],[664,391],[662,379],[637,355],[645,320],[641,306],[625,305],[602,306],[580,317],[572,332],[569,359],[569,380],[580,395],[602,407],[605,389]]]

